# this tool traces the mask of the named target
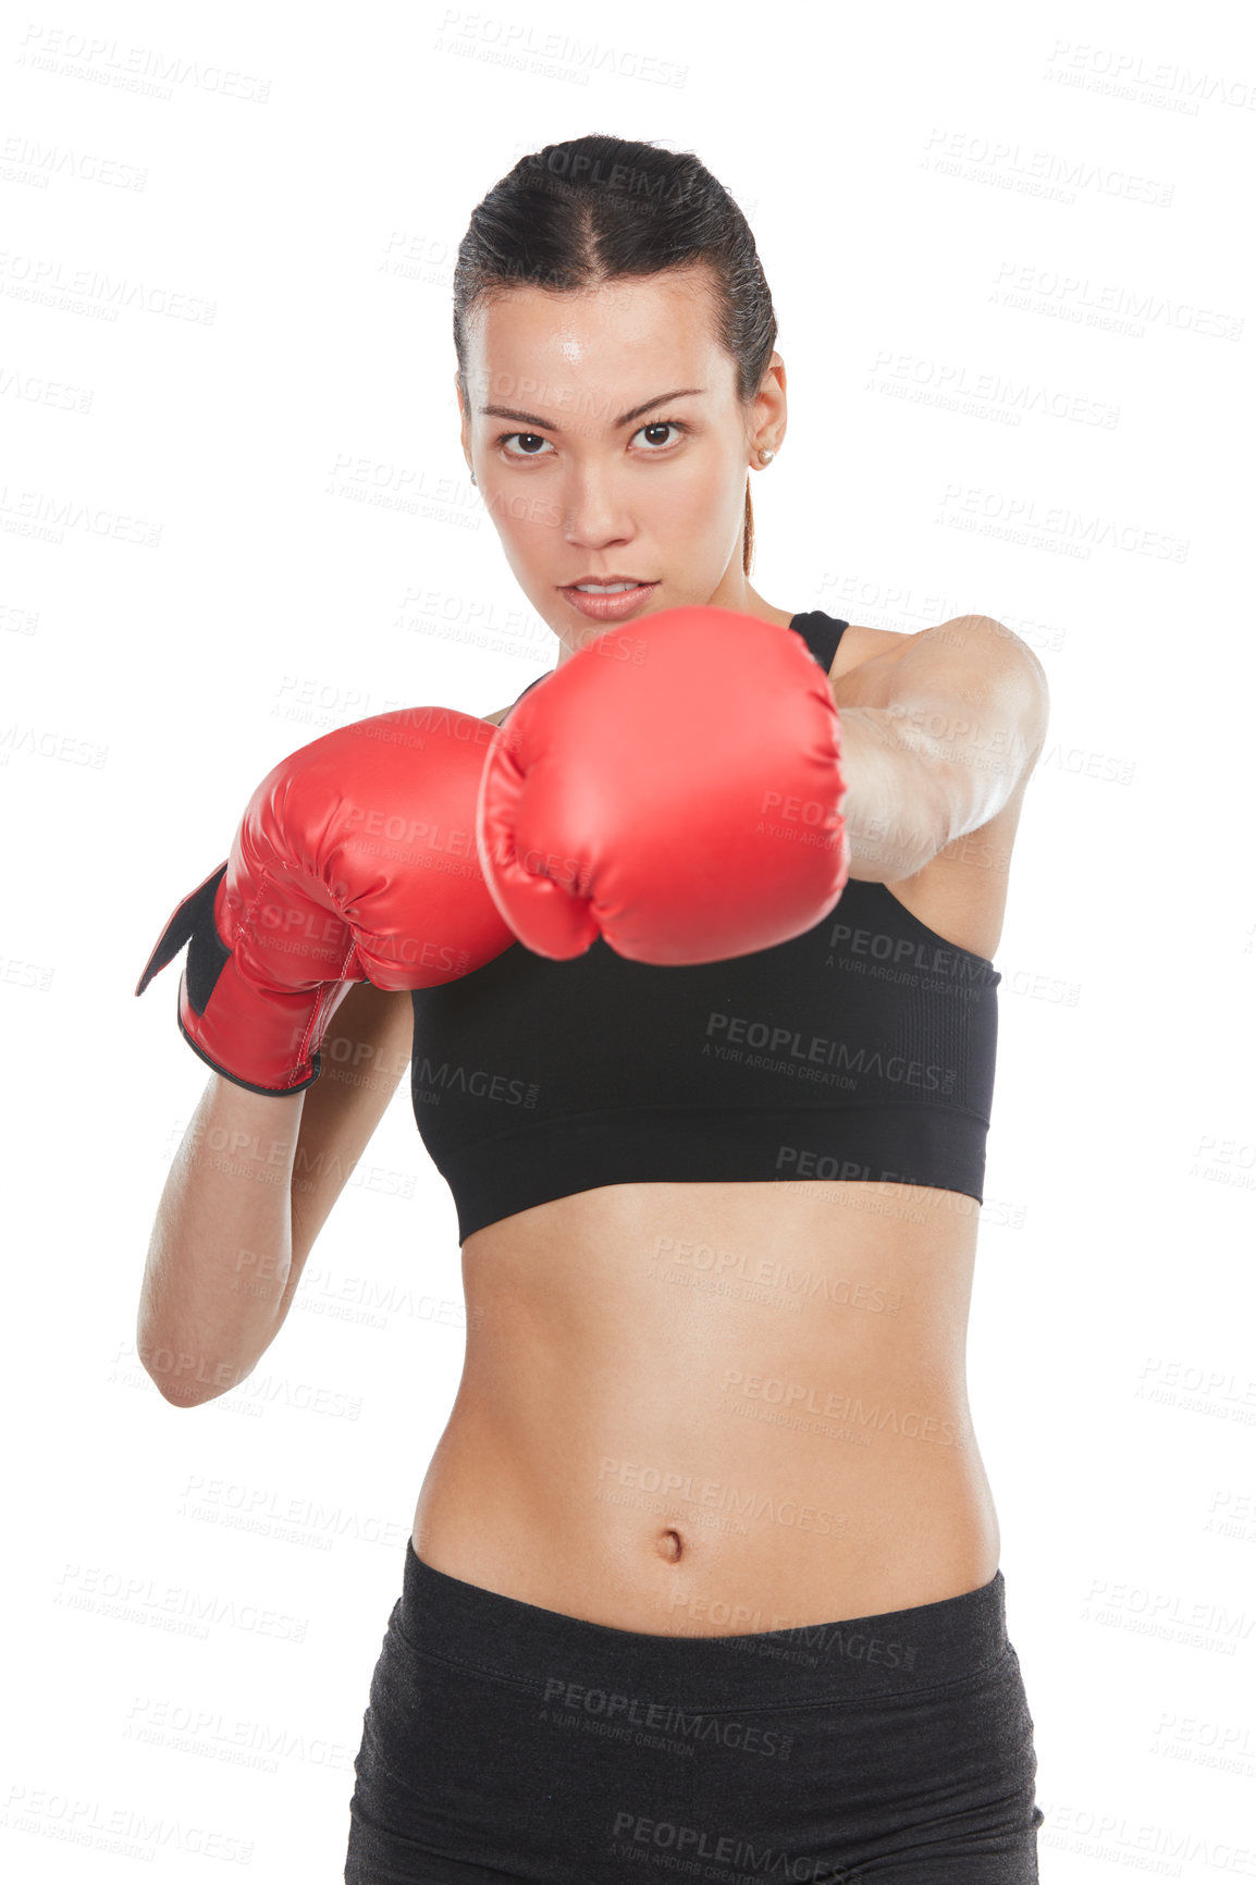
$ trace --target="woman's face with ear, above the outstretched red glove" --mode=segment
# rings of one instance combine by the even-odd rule
[[[749,411],[737,403],[705,279],[673,270],[590,292],[515,288],[470,324],[462,451],[560,664],[660,609],[752,613],[745,479],[785,437],[785,366],[773,352]],[[613,616],[571,598],[573,584],[617,579],[647,586]]]

